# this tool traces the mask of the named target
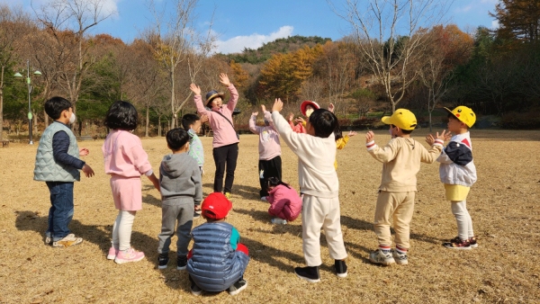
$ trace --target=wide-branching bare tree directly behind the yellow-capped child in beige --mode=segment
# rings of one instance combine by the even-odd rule
[[[394,112],[418,76],[410,66],[425,47],[427,36],[422,27],[438,22],[453,1],[369,0],[361,6],[359,0],[347,0],[345,13],[328,2],[351,25],[360,53],[384,86]]]

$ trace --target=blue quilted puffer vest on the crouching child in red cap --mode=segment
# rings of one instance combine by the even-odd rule
[[[187,272],[203,291],[225,291],[246,270],[249,256],[230,246],[232,228],[229,223],[214,222],[192,231],[193,256],[187,261]]]

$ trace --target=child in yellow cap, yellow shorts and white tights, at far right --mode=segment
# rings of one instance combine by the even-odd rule
[[[448,112],[448,131],[454,136],[443,149],[437,161],[441,163],[439,174],[445,183],[446,200],[451,202],[452,213],[457,223],[457,237],[444,243],[450,249],[468,250],[478,246],[473,231],[473,219],[467,210],[467,195],[476,182],[476,167],[473,162],[473,145],[469,128],[473,127],[476,115],[470,108],[460,105]],[[429,134],[428,143],[435,139]]]

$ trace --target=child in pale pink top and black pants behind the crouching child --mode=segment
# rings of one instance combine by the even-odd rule
[[[266,190],[266,180],[269,177],[277,177],[281,180],[281,146],[279,144],[279,134],[275,130],[272,114],[266,111],[265,105],[261,105],[261,110],[265,115],[265,127],[256,126],[258,112],[252,112],[249,119],[249,130],[259,136],[259,192],[261,201],[267,201],[268,191]]]

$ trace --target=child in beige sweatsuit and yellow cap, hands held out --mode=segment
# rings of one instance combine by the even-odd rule
[[[374,231],[379,248],[369,255],[374,264],[408,264],[407,251],[410,248],[410,221],[414,211],[417,192],[416,174],[420,162],[435,162],[443,148],[447,135],[439,136],[428,150],[410,137],[417,121],[412,112],[398,109],[392,116],[384,116],[382,121],[390,125],[392,139],[384,147],[375,144],[374,132],[365,134],[365,146],[374,158],[383,163],[383,174],[379,196],[375,207]],[[393,219],[396,250],[392,251],[390,225]]]

